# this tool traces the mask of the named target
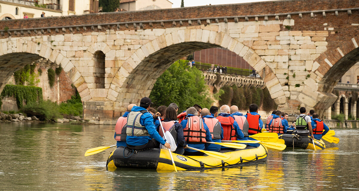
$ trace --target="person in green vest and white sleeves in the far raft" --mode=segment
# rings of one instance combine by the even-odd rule
[[[299,108],[300,115],[295,120],[297,134],[300,136],[311,136],[314,139],[311,117],[306,115],[306,108]]]

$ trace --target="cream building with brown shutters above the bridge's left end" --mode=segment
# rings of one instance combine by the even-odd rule
[[[0,19],[39,18],[98,12],[98,0],[0,0]],[[11,26],[9,26],[11,28]]]

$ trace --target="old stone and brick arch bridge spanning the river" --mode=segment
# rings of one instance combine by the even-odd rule
[[[190,13],[190,14],[188,14]],[[46,58],[73,81],[84,119],[113,124],[184,55],[223,47],[260,74],[283,110],[334,103],[359,57],[358,0],[285,0],[0,21],[0,91]]]

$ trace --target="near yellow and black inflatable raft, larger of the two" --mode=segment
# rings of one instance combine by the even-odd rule
[[[184,156],[172,153],[177,170],[199,170],[209,168],[231,167],[243,164],[253,164],[267,161],[267,148],[263,145],[257,147],[247,146],[245,149],[234,151],[221,150],[221,153],[230,155],[228,160],[204,156]],[[108,157],[109,170],[116,168],[144,168],[157,170],[173,170],[168,150],[145,149],[132,151],[124,147],[116,148]]]

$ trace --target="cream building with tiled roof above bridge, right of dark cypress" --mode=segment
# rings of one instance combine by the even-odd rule
[[[120,9],[125,11],[171,8],[172,3],[168,0],[120,0]]]

